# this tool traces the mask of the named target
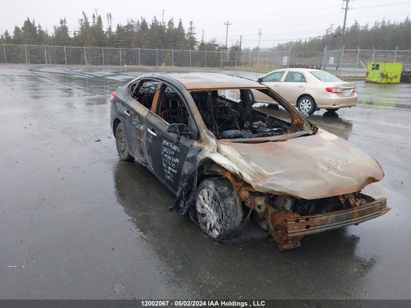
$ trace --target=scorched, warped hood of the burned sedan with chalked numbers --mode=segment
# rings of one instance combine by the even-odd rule
[[[286,141],[217,141],[217,152],[260,192],[319,199],[359,191],[384,177],[374,158],[355,145],[319,129]]]

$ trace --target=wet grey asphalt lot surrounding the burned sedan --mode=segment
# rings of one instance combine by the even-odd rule
[[[252,222],[215,243],[118,159],[109,93],[171,71],[0,66],[1,299],[411,298],[411,84],[357,81],[355,108],[310,117],[375,157],[385,178],[364,192],[392,210],[279,252]]]

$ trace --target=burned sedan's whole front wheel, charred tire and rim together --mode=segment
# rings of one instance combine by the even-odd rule
[[[200,183],[195,202],[201,230],[215,241],[235,235],[243,210],[240,197],[226,178],[209,178]]]

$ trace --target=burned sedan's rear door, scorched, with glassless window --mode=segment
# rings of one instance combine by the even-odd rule
[[[158,82],[154,80],[139,80],[137,84],[130,85],[130,96],[125,101],[124,116],[125,116],[125,135],[128,145],[130,146],[131,155],[138,158],[143,163],[147,162],[145,150],[144,150],[144,137],[145,137],[145,119],[150,111],[147,107],[151,107],[149,101],[142,101],[143,96],[138,95],[145,84],[152,83],[153,89],[147,87],[147,92],[154,92],[157,88]],[[152,102],[152,101],[151,101]],[[144,105],[145,106],[144,106]]]

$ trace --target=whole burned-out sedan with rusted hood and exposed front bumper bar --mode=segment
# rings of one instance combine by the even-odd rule
[[[252,91],[278,102],[289,119],[253,109]],[[175,195],[170,210],[190,215],[214,240],[236,234],[252,214],[286,250],[305,235],[390,210],[386,199],[360,192],[384,177],[374,158],[256,81],[155,73],[111,94],[120,159],[149,168]]]

